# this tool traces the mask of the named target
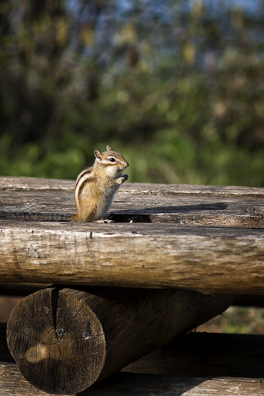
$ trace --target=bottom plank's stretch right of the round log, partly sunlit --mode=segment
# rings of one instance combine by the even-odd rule
[[[263,396],[264,379],[119,373],[83,396]]]

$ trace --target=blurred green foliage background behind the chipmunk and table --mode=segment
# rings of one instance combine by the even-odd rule
[[[0,0],[1,175],[75,178],[110,144],[129,181],[264,185],[264,6],[168,1],[100,41],[112,1],[23,4]]]

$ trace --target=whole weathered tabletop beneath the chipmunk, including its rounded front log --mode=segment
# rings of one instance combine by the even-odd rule
[[[264,293],[263,188],[128,183],[100,225],[69,221],[73,187],[0,178],[2,282]]]

